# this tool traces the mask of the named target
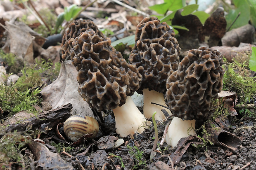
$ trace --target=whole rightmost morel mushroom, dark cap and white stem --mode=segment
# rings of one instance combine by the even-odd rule
[[[212,99],[222,90],[223,59],[218,50],[199,47],[188,51],[166,83],[167,104],[175,116],[165,142],[175,147],[182,137],[196,134],[195,121],[212,114]]]

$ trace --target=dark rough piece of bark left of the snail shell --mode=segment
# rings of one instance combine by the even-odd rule
[[[25,119],[18,124],[11,124],[3,131],[5,133],[13,132],[17,130],[18,132],[26,131],[28,126],[31,126],[32,129],[41,127],[41,131],[44,131],[45,128],[56,128],[57,124],[65,121],[67,118],[71,116],[70,111],[72,109],[72,105],[69,103],[64,105],[63,107],[58,107],[56,109],[49,110],[48,112],[42,112],[38,116],[33,116],[31,118]],[[0,134],[0,138],[4,135],[4,133]]]

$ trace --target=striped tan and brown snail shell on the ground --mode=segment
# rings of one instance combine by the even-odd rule
[[[97,136],[99,132],[99,123],[90,116],[81,116],[76,114],[70,116],[64,122],[64,133],[71,141],[76,142],[81,136],[92,133],[93,138]]]

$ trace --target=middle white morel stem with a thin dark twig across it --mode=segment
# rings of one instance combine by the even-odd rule
[[[159,93],[157,91],[151,90],[149,91],[148,88],[143,89],[143,101],[144,101],[144,107],[143,107],[143,114],[146,118],[152,117],[153,113],[156,112],[155,119],[160,121],[162,119],[165,119],[164,113],[161,111],[161,109],[165,109],[162,106],[164,105],[167,107],[166,102],[164,100],[164,94]],[[159,105],[151,104],[151,102],[157,103]],[[169,115],[171,115],[171,111],[169,109],[166,109]]]

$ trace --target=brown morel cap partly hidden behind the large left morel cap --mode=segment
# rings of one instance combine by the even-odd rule
[[[81,33],[89,29],[94,30],[96,34],[100,37],[104,37],[103,33],[100,32],[95,23],[90,20],[78,19],[69,24],[68,30],[66,31],[66,33],[64,33],[62,37],[62,44],[60,48],[62,51],[63,60],[65,60],[69,56],[74,38],[78,37]]]

